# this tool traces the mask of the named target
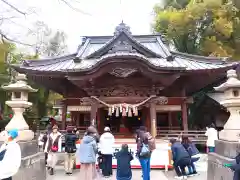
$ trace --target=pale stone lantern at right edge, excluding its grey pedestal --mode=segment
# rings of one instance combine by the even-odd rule
[[[240,133],[240,81],[235,70],[227,71],[227,78],[225,83],[215,87],[216,91],[224,92],[223,101],[220,104],[230,112],[230,117],[224,125],[224,129],[219,133],[219,138],[226,141],[238,141]]]

